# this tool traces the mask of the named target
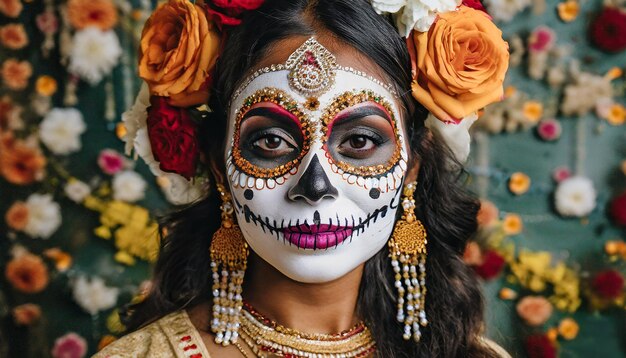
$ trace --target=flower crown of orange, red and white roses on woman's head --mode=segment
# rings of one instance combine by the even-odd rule
[[[146,22],[139,53],[145,81],[123,115],[128,154],[142,157],[169,201],[202,196],[196,107],[209,99],[225,29],[263,0],[168,0]],[[412,94],[430,115],[426,126],[464,161],[469,127],[478,111],[503,96],[508,44],[479,0],[372,0],[406,38],[412,62]],[[178,25],[182,23],[182,26]]]

